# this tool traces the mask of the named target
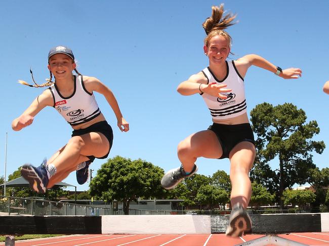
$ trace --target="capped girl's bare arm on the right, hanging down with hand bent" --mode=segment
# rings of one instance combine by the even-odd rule
[[[86,78],[86,79],[85,79]],[[106,101],[111,106],[115,117],[117,119],[117,126],[119,127],[120,131],[129,131],[129,123],[125,120],[122,116],[119,105],[115,99],[113,92],[101,81],[99,81],[95,77],[87,77],[84,76],[85,86],[89,91],[97,91],[104,95]]]

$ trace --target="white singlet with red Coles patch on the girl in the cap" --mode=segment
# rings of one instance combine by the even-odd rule
[[[56,83],[49,87],[54,97],[53,107],[71,126],[88,122],[101,113],[94,94],[85,88],[83,76],[73,77],[74,90],[72,95],[68,97],[61,95]]]

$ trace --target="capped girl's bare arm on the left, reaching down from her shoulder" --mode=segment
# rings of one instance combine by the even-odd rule
[[[18,118],[13,120],[12,128],[14,131],[20,131],[24,127],[31,125],[34,116],[46,106],[53,106],[53,96],[49,89],[38,95],[32,104]]]

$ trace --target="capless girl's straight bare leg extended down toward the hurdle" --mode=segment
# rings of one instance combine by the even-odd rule
[[[240,203],[245,209],[251,198],[252,186],[249,172],[255,160],[255,145],[251,142],[240,142],[230,152],[230,179],[232,183],[231,205]]]

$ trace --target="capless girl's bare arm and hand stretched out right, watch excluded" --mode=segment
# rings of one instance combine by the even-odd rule
[[[246,71],[252,65],[266,69],[272,73],[277,72],[276,66],[258,55],[246,55],[241,57],[236,60],[235,65],[242,77],[245,76]],[[299,68],[287,68],[282,70],[278,76],[284,79],[297,79],[302,76],[302,70]]]

